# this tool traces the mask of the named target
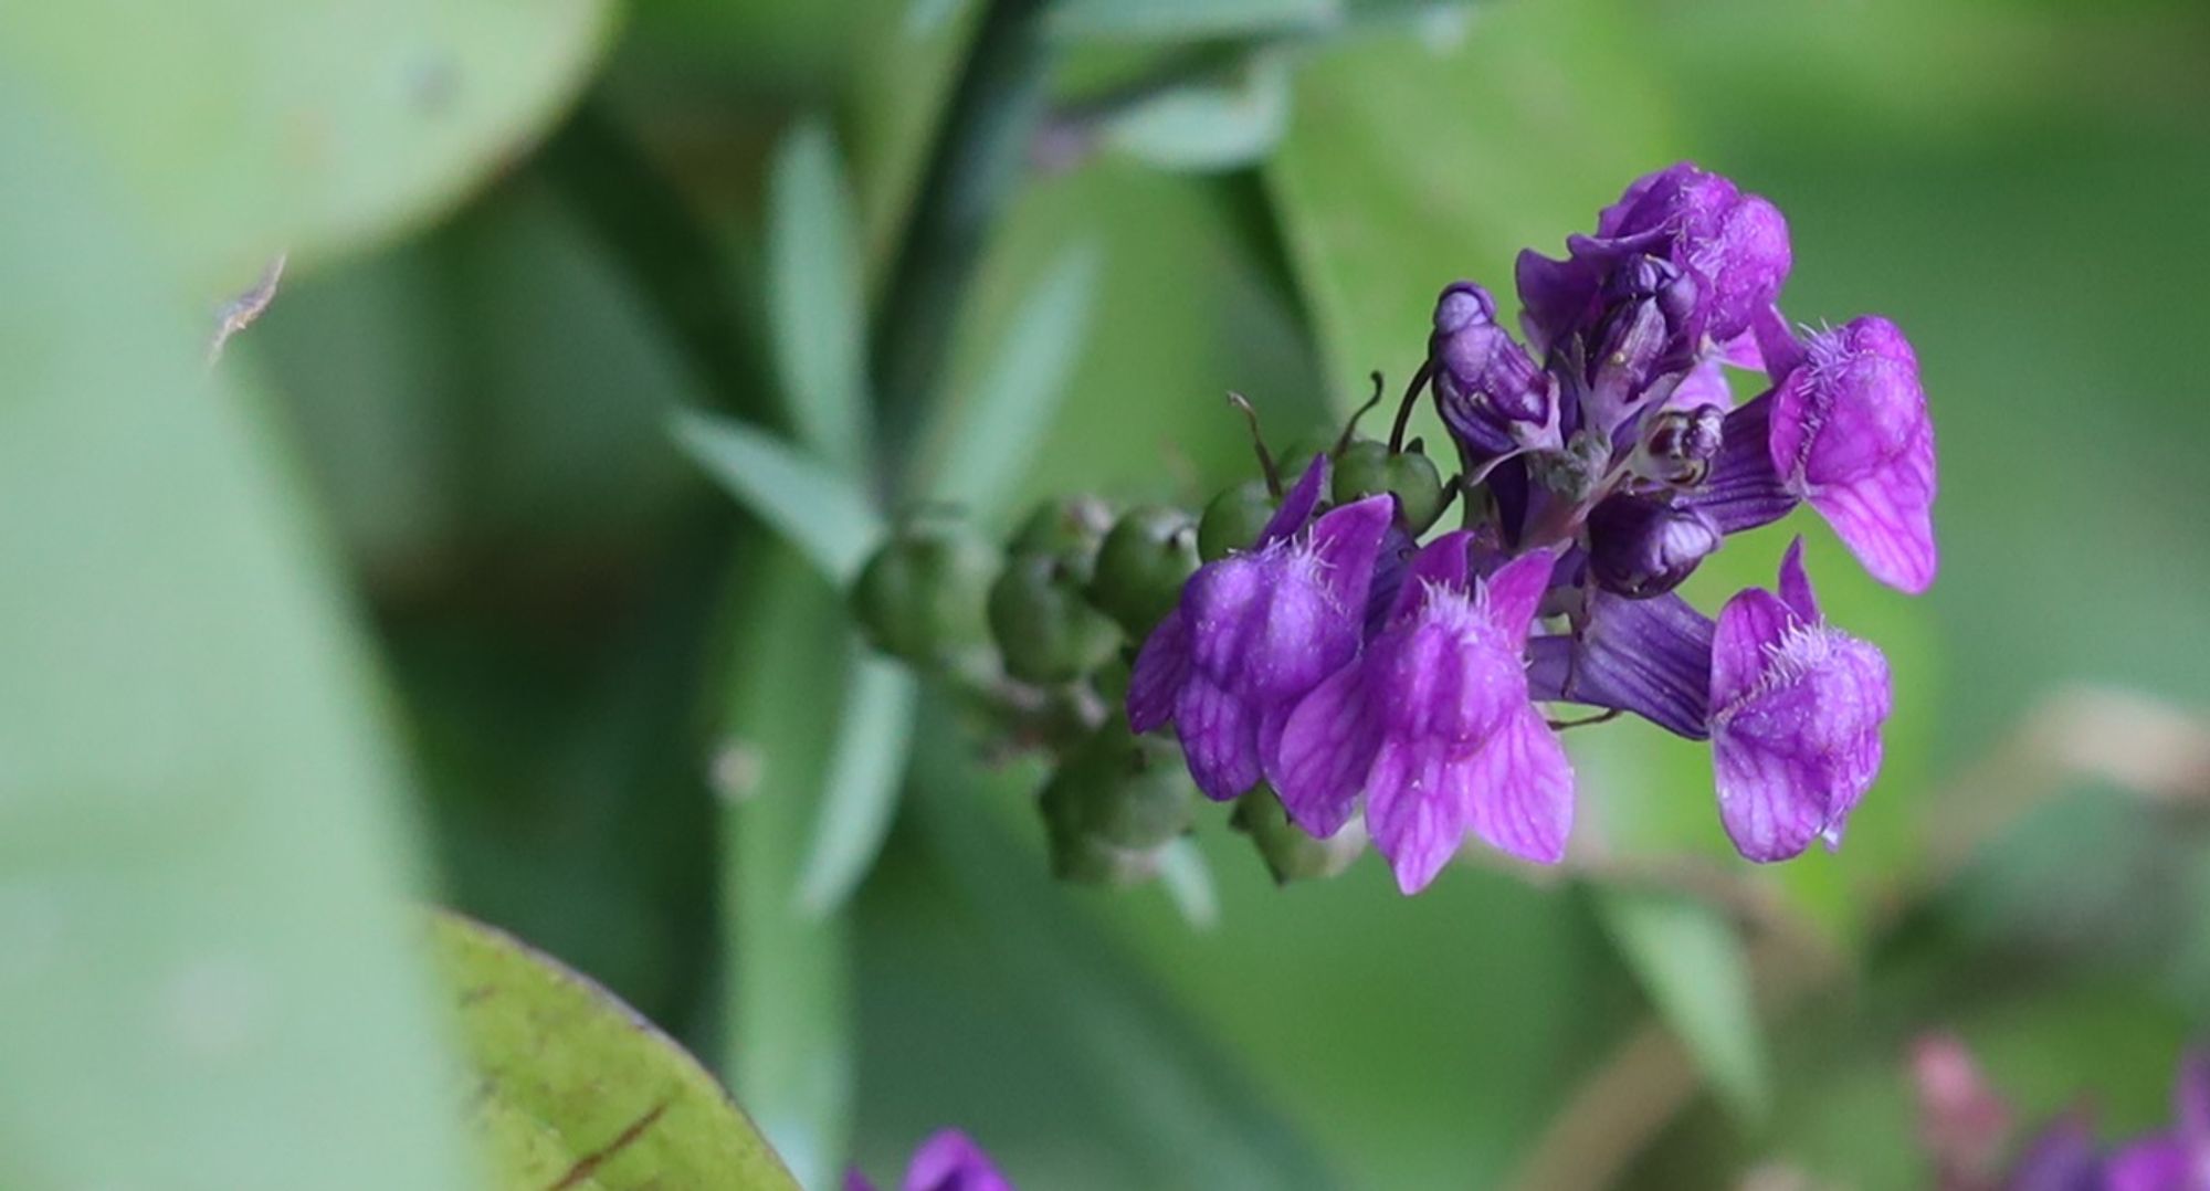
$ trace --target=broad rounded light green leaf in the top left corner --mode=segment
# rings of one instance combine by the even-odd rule
[[[9,4],[35,80],[177,250],[194,294],[243,289],[451,205],[566,106],[608,0]]]

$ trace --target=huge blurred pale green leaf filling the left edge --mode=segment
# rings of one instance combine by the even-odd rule
[[[0,1184],[460,1189],[373,665],[53,108],[0,71]]]

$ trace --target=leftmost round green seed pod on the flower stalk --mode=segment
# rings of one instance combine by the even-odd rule
[[[959,526],[899,526],[853,583],[853,614],[877,650],[917,665],[979,645],[994,550]]]

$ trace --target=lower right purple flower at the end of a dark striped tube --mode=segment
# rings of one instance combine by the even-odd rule
[[[1819,616],[1803,539],[1781,559],[1779,594],[1726,601],[1711,641],[1711,749],[1719,820],[1748,860],[1841,844],[1881,771],[1887,658]]]

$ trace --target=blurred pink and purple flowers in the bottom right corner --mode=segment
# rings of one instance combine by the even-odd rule
[[[1912,1047],[1920,1136],[1945,1191],[2210,1191],[2210,1052],[2179,1058],[2172,1125],[2117,1147],[2073,1107],[2022,1142],[2011,1105],[1947,1034]]]

